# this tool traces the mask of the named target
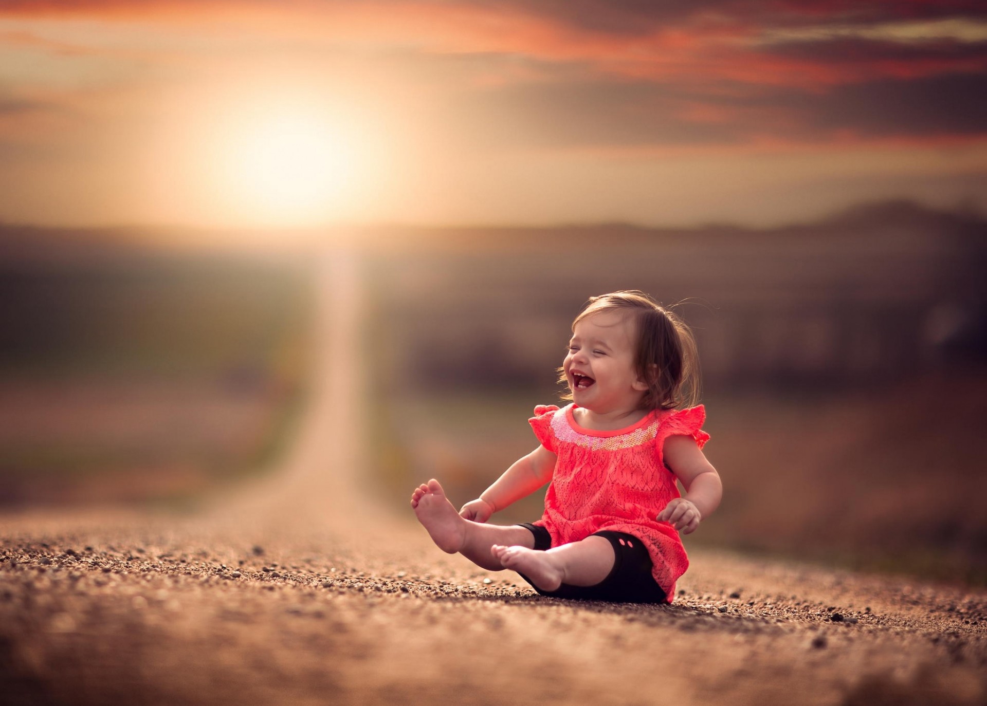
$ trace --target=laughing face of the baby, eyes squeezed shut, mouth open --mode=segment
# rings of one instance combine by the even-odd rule
[[[572,401],[597,414],[638,408],[647,385],[634,365],[636,329],[623,312],[599,312],[575,324],[563,362]]]

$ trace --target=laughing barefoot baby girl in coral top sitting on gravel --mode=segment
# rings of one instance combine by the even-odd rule
[[[412,495],[418,521],[443,551],[513,569],[543,596],[671,602],[689,565],[678,532],[696,530],[722,490],[701,451],[704,408],[683,408],[698,387],[692,334],[641,292],[593,297],[560,382],[571,403],[535,407],[535,451],[458,513],[429,480]],[[541,520],[486,524],[550,481]]]

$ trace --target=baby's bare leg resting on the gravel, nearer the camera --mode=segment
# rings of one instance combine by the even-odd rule
[[[534,551],[525,546],[494,546],[491,550],[505,569],[524,574],[542,591],[556,591],[563,584],[596,586],[609,576],[616,556],[610,540],[587,536],[581,541]]]

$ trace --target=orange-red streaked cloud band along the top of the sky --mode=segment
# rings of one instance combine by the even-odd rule
[[[865,52],[852,60],[834,62],[828,52],[832,41],[798,42],[795,53],[784,43],[774,46],[759,41],[759,36],[771,28],[797,26],[804,30],[813,23],[832,22],[834,17],[846,16],[848,7],[842,2],[813,0],[767,3],[758,11],[745,3],[721,2],[700,3],[677,13],[654,10],[635,15],[619,4],[592,2],[574,2],[568,9],[556,7],[552,12],[533,2],[15,0],[4,4],[0,16],[154,19],[196,26],[204,32],[274,36],[322,47],[335,44],[369,50],[499,54],[571,64],[583,72],[618,80],[821,88],[882,77],[914,78],[987,68],[987,50],[982,48],[972,53],[950,54],[947,50],[929,56],[924,47],[905,47],[893,59]],[[930,2],[907,7],[888,2],[853,6],[855,17],[870,17],[874,22],[939,16],[950,8],[972,12],[972,7],[970,3]],[[718,14],[709,12],[710,8]],[[597,13],[599,22],[586,21],[590,12]],[[638,25],[631,24],[634,20]],[[621,27],[620,31],[608,29],[615,26]],[[511,77],[488,74],[485,80],[495,83]]]

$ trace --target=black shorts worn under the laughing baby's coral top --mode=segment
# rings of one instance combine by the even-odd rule
[[[523,523],[520,527],[531,530],[535,535],[535,549],[544,551],[552,548],[552,535],[540,525]],[[531,580],[521,574],[521,578],[542,596],[554,599],[610,600],[617,603],[662,603],[665,592],[651,576],[651,556],[645,543],[633,534],[622,531],[601,530],[590,536],[602,536],[614,548],[614,568],[607,577],[595,586],[569,586],[563,584],[555,591],[542,591]]]

